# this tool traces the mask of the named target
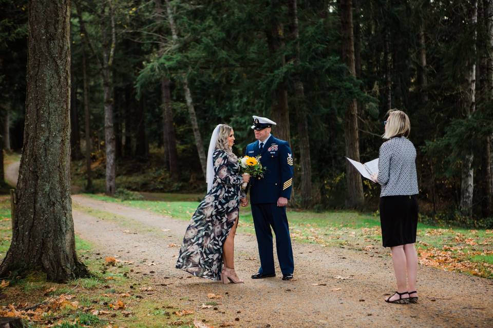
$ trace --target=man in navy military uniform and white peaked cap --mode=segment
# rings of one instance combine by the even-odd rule
[[[260,269],[252,279],[275,277],[272,231],[276,234],[277,259],[282,271],[282,280],[293,279],[294,261],[289,236],[286,205],[291,197],[293,183],[293,153],[287,141],[271,135],[276,122],[253,116],[257,141],[247,146],[246,155],[260,155],[263,178],[250,181],[250,201],[253,223],[257,235]],[[246,198],[245,198],[245,201]]]

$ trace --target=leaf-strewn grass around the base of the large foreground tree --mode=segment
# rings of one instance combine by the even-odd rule
[[[11,236],[10,198],[0,196],[0,260],[5,257]],[[193,327],[188,320],[180,322],[182,317],[175,312],[182,309],[173,304],[172,295],[163,298],[156,294],[153,298],[140,290],[153,282],[131,272],[130,263],[117,260],[115,265],[108,264],[105,256],[111,255],[100,254],[77,235],[75,246],[92,277],[52,283],[43,273],[26,273],[5,279],[0,284],[0,316],[20,316],[33,328]],[[169,301],[163,303],[163,299]],[[39,303],[42,304],[27,311]],[[124,309],[115,309],[113,304],[123,304]]]

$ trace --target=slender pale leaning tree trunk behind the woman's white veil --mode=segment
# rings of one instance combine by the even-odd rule
[[[166,14],[168,17],[169,27],[171,29],[171,33],[173,36],[173,42],[178,44],[178,29],[175,24],[175,18],[173,17],[173,8],[170,3],[170,0],[165,0],[166,2]],[[181,83],[183,85],[183,91],[185,93],[186,106],[188,108],[188,116],[190,117],[190,122],[192,124],[192,130],[194,132],[195,137],[195,146],[197,147],[197,153],[199,155],[200,165],[202,167],[202,173],[204,178],[206,176],[207,171],[207,157],[205,157],[204,144],[202,142],[202,137],[200,135],[199,124],[197,122],[197,115],[195,113],[194,99],[192,97],[192,92],[188,86],[188,77],[186,73],[181,74]]]

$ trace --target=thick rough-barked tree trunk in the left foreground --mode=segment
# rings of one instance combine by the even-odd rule
[[[31,0],[28,8],[23,155],[0,276],[41,268],[48,280],[66,281],[88,273],[75,254],[70,199],[70,1]]]

